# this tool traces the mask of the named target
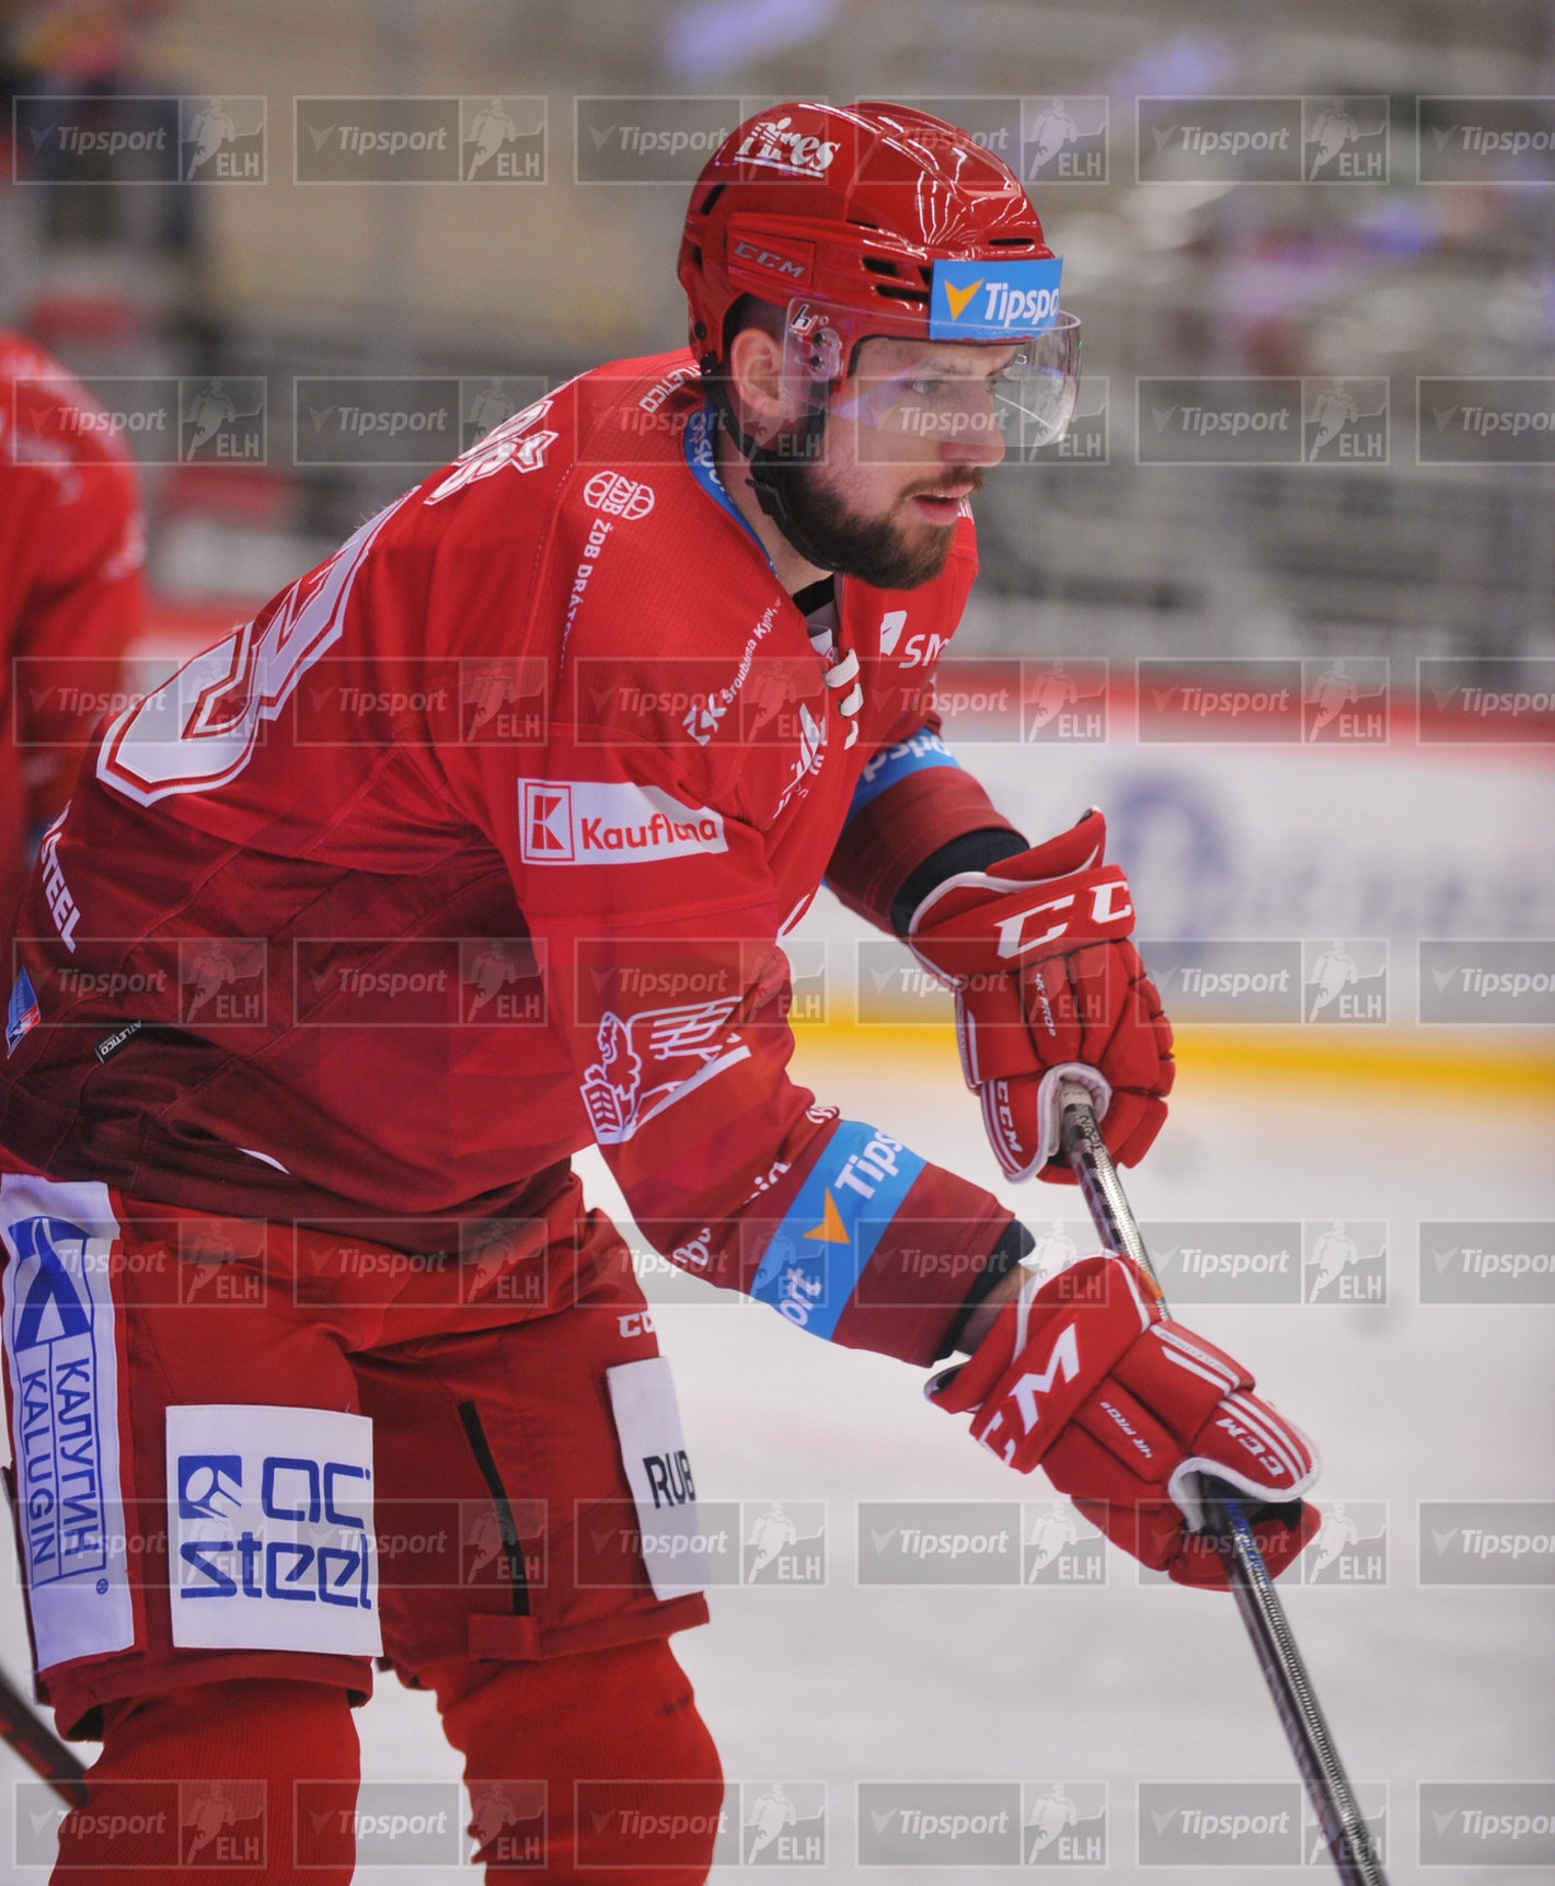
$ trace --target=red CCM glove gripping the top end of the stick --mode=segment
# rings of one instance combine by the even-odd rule
[[[1086,1084],[1120,1166],[1137,1164],[1167,1118],[1172,1030],[1127,941],[1133,902],[1105,847],[1106,820],[1089,811],[1046,845],[948,877],[907,930],[918,960],[956,988],[961,1069],[1010,1179],[1040,1169],[1072,1183],[1057,1130],[1065,1077],[1093,1069]]]

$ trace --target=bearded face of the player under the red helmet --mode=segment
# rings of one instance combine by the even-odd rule
[[[826,562],[876,588],[944,570],[956,513],[999,464],[995,375],[1012,347],[871,339],[831,400],[818,464],[784,468],[790,515]]]

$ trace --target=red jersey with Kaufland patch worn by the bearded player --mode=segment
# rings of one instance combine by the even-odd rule
[[[918,856],[1003,822],[922,666],[971,519],[931,585],[841,583],[829,668],[714,426],[684,355],[586,373],[111,720],[23,911],[0,1143],[405,1243],[597,1141],[679,1264],[935,1354],[1010,1215],[788,1079],[778,939],[859,807]]]

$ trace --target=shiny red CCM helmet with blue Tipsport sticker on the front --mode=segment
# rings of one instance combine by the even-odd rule
[[[935,332],[937,262],[1048,262],[1056,290],[1020,179],[965,130],[910,106],[773,106],[724,140],[692,190],[679,262],[692,353],[722,366],[741,294],[824,309],[844,360],[871,334],[959,338]]]

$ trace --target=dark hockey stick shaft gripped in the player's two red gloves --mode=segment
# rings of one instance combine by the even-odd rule
[[[1059,1092],[1059,1117],[1063,1150],[1086,1194],[1097,1233],[1108,1250],[1133,1258],[1150,1277],[1155,1288],[1161,1279],[1144,1249],[1135,1215],[1123,1198],[1123,1186],[1112,1166],[1112,1156],[1097,1132],[1091,1096],[1078,1081],[1067,1081]],[[1165,1298],[1161,1313],[1167,1311]],[[1306,1675],[1291,1626],[1285,1620],[1285,1607],[1263,1563],[1263,1554],[1253,1541],[1252,1526],[1242,1513],[1240,1496],[1221,1481],[1203,1484],[1204,1505],[1214,1518],[1214,1533],[1225,1560],[1225,1575],[1242,1613],[1242,1624],[1253,1641],[1253,1652],[1274,1697],[1274,1709],[1285,1729],[1301,1778],[1318,1826],[1329,1843],[1329,1856],[1344,1886],[1387,1886],[1387,1877],[1372,1850],[1370,1831],[1361,1816],[1355,1790],[1344,1773],[1344,1763],[1334,1748],[1312,1679]]]

